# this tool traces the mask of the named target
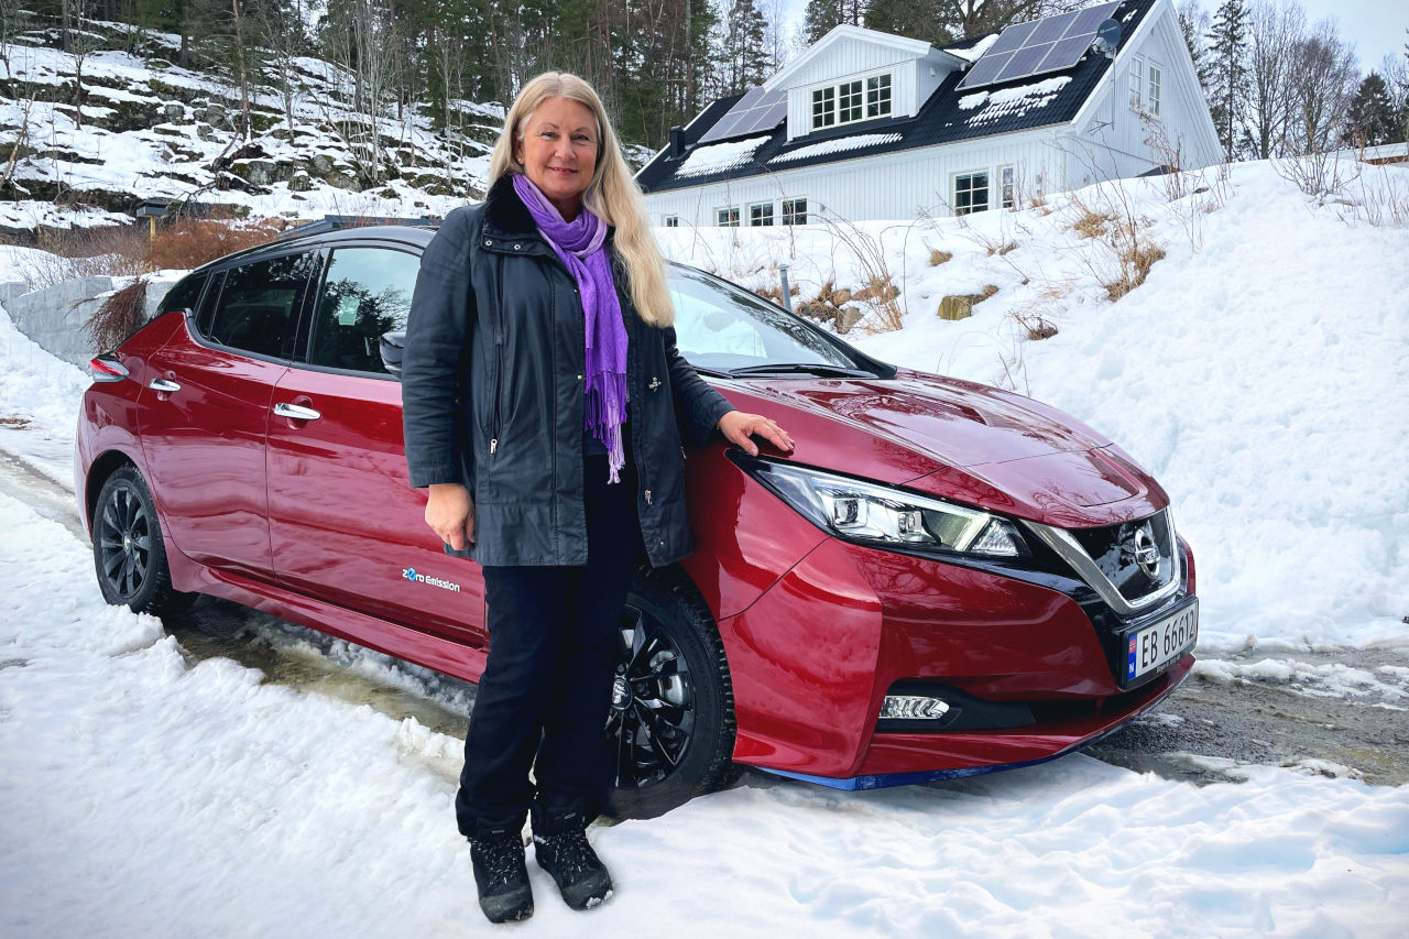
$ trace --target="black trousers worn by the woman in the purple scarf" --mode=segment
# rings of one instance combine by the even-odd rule
[[[637,554],[635,470],[583,457],[588,563],[485,567],[489,658],[465,736],[455,818],[466,837],[592,821],[614,782],[606,740],[621,610]],[[533,768],[534,781],[528,771]],[[581,815],[579,815],[581,814]]]

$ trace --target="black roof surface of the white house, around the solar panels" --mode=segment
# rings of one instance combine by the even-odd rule
[[[1116,20],[1120,20],[1123,25],[1120,37],[1122,48],[1124,48],[1126,42],[1130,41],[1136,27],[1138,27],[1146,14],[1150,13],[1154,3],[1155,0],[1126,0],[1116,7],[1115,14],[1112,16]],[[981,38],[982,37],[971,37],[938,48],[941,51],[962,51],[976,45]],[[883,117],[862,121],[859,124],[847,124],[844,128],[814,131],[812,134],[806,134],[805,137],[799,137],[792,142],[788,141],[788,123],[783,121],[774,128],[769,138],[752,152],[752,158],[748,162],[719,172],[678,178],[675,173],[681,168],[681,164],[689,156],[695,142],[699,141],[699,138],[703,137],[704,133],[713,127],[741,96],[727,97],[710,104],[690,124],[690,128],[683,140],[686,147],[682,154],[672,155],[669,148],[662,149],[655,155],[655,159],[647,164],[645,168],[637,175],[637,182],[645,192],[689,189],[713,182],[747,179],[750,176],[761,176],[786,169],[817,166],[838,159],[855,159],[858,156],[890,154],[919,147],[934,147],[937,144],[952,144],[978,137],[993,137],[996,134],[1012,134],[1014,131],[1036,130],[1038,127],[1050,127],[1053,124],[1065,124],[1076,117],[1076,113],[1091,97],[1092,92],[1100,85],[1100,80],[1109,75],[1109,69],[1110,59],[1103,55],[1088,54],[1075,66],[1062,72],[1027,76],[999,85],[988,85],[981,89],[965,90],[962,93],[957,93],[955,87],[964,80],[965,72],[954,70],[945,76],[944,82],[940,83],[940,87],[930,94],[929,100],[926,100],[926,103],[920,107],[920,113],[914,117]],[[982,123],[971,121],[972,117],[982,113],[982,107],[972,107],[967,110],[960,107],[961,100],[969,99],[974,94],[982,94],[985,92],[993,94],[995,92],[1002,92],[1010,87],[1020,87],[1034,82],[1067,76],[1069,76],[1071,80],[1062,89],[1051,94],[1045,104],[1040,107],[1014,107],[1007,113],[998,114],[993,118],[986,118]],[[875,142],[868,147],[844,149],[841,152],[814,154],[812,156],[769,165],[769,161],[805,147],[845,137],[857,137],[861,134],[899,134],[899,140]],[[740,137],[748,138],[759,135],[761,134],[743,134]],[[734,137],[734,140],[738,140],[740,137]]]

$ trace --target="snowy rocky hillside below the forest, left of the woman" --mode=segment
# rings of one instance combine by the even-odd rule
[[[54,30],[21,32],[0,59],[0,147],[18,141],[0,228],[125,224],[138,199],[193,199],[252,216],[324,213],[442,216],[483,192],[489,151],[503,123],[497,104],[458,103],[464,133],[433,133],[414,110],[387,107],[376,128],[354,113],[354,76],[328,62],[287,62],[290,100],[255,89],[255,134],[240,127],[232,80],[172,62],[179,37],[121,23],[86,23],[101,48],[82,63],[52,48]],[[125,47],[135,45],[135,51]],[[70,103],[82,73],[86,102]],[[287,104],[287,107],[286,107]],[[290,120],[292,117],[292,120]],[[89,206],[83,213],[56,210]]]

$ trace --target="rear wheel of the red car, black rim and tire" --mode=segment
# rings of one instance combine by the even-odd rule
[[[156,503],[134,467],[116,470],[97,493],[93,567],[103,599],[134,613],[166,616],[196,599],[196,594],[172,588]]]

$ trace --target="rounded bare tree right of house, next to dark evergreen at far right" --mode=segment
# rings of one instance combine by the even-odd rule
[[[1301,154],[1336,147],[1360,70],[1355,49],[1340,38],[1334,20],[1322,20],[1292,52],[1288,135]]]

